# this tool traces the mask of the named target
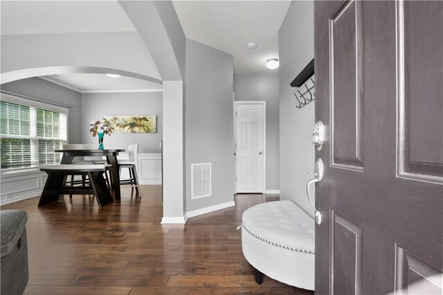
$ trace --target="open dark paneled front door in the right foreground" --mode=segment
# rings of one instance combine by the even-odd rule
[[[317,1],[316,294],[442,294],[443,1]]]

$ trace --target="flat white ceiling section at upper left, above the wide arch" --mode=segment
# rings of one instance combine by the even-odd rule
[[[1,35],[134,31],[117,1],[1,1]]]

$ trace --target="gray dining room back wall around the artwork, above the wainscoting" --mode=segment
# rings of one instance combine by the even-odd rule
[[[132,93],[83,93],[82,94],[82,143],[97,143],[89,132],[89,122],[106,115],[157,115],[157,133],[123,134],[105,136],[105,148],[125,148],[139,144],[138,152],[161,152],[163,135],[163,102],[161,92]]]

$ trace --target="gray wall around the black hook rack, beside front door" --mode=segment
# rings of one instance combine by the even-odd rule
[[[289,83],[314,57],[314,4],[293,1],[278,33],[280,55],[280,199],[291,199],[311,216],[305,185],[314,171],[314,103],[296,109]],[[314,193],[314,190],[312,190]],[[314,196],[314,194],[313,194]]]

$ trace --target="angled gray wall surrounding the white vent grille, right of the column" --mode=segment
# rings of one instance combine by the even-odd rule
[[[186,39],[186,211],[233,201],[233,56]],[[191,163],[212,163],[213,195],[191,199]]]

